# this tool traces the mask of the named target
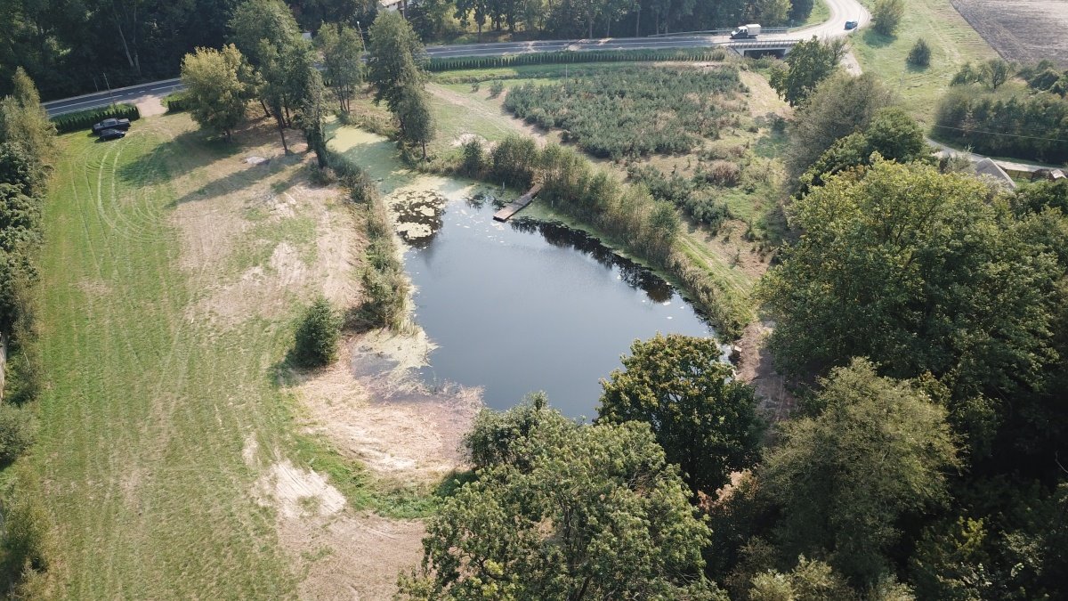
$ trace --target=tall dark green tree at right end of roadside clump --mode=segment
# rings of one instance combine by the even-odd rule
[[[386,101],[396,113],[410,70],[422,78],[426,52],[408,21],[395,11],[382,11],[371,26],[367,43],[367,81],[375,87],[375,103]]]

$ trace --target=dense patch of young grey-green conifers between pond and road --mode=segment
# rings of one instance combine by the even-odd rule
[[[729,123],[723,105],[739,86],[733,67],[635,66],[513,88],[504,107],[529,123],[564,129],[565,141],[596,156],[676,154],[717,137]]]

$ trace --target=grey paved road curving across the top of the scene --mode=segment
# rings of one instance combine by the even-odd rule
[[[831,17],[818,25],[795,29],[784,33],[760,35],[758,41],[798,40],[813,35],[822,40],[847,35],[847,20],[858,20],[864,27],[871,20],[870,14],[857,0],[824,0],[831,10]],[[729,43],[726,35],[682,34],[656,37],[606,37],[603,40],[541,40],[533,42],[499,42],[489,44],[455,44],[451,46],[428,46],[426,53],[434,58],[494,57],[529,52],[555,52],[560,50],[583,52],[592,50],[637,50],[703,48]],[[163,96],[180,91],[178,79],[164,79],[120,88],[109,92],[97,92],[43,103],[49,117],[107,106],[112,103],[134,102],[143,96]]]

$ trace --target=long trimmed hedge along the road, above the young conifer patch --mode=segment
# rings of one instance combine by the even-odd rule
[[[564,64],[600,62],[647,62],[647,61],[722,61],[726,58],[723,48],[684,50],[596,50],[575,52],[532,52],[529,55],[506,55],[503,57],[469,57],[459,59],[431,58],[427,68],[433,72],[458,71],[465,68],[493,68],[525,64]]]

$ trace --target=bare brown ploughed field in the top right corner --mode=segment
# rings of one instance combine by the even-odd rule
[[[952,0],[964,19],[1008,61],[1049,59],[1068,68],[1068,5],[1063,0]]]

